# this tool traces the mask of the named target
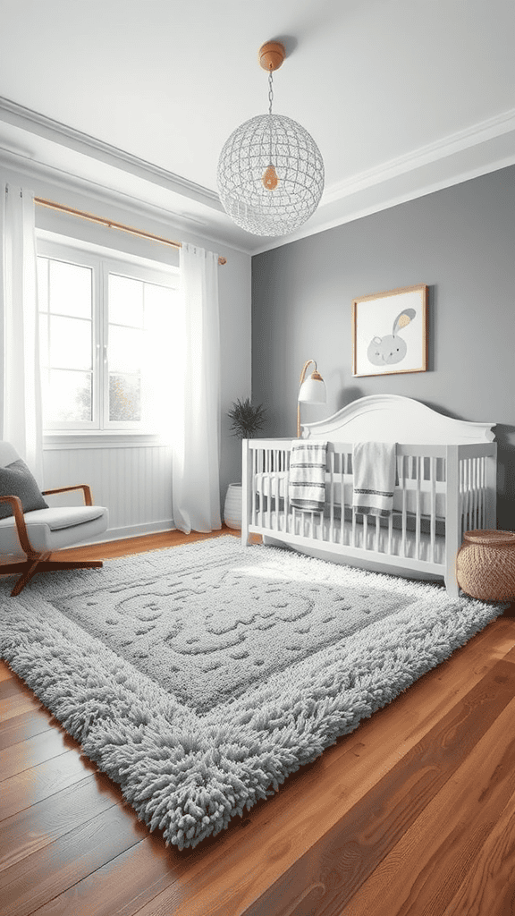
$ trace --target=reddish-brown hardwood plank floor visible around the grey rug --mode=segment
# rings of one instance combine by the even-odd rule
[[[193,850],[149,834],[4,662],[0,723],[2,916],[515,914],[513,610]]]

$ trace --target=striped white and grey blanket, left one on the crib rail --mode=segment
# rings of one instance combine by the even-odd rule
[[[288,496],[298,509],[321,512],[325,503],[327,442],[294,442],[290,453]]]

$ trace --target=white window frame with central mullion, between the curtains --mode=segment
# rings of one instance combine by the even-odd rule
[[[76,240],[54,241],[38,237],[38,256],[65,261],[93,270],[92,284],[92,373],[93,373],[93,420],[49,421],[43,433],[46,444],[63,442],[105,441],[109,438],[132,439],[148,442],[160,438],[158,430],[146,427],[143,421],[109,420],[108,395],[109,373],[101,366],[107,355],[107,334],[109,325],[108,283],[109,274],[134,278],[159,286],[179,289],[180,273],[177,267],[169,267],[147,258],[126,255],[104,249],[100,245],[78,243]],[[121,444],[121,443],[120,443]],[[143,442],[142,442],[143,444]]]

